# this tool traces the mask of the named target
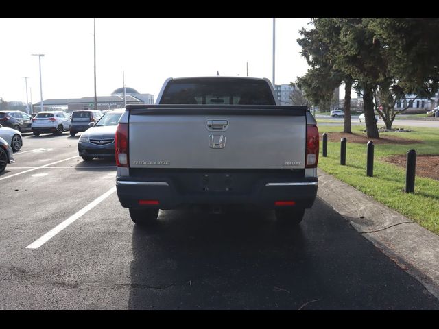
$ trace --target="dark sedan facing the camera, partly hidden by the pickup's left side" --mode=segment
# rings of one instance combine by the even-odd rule
[[[107,112],[97,121],[89,123],[90,129],[78,141],[80,157],[86,161],[93,158],[115,158],[115,134],[117,122],[125,109]]]

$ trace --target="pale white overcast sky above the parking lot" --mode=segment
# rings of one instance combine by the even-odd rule
[[[310,19],[276,18],[276,84],[308,66],[296,42]],[[272,80],[272,18],[96,19],[97,96],[125,86],[155,99],[168,77],[220,75]],[[5,101],[94,96],[93,18],[1,18],[0,97]]]

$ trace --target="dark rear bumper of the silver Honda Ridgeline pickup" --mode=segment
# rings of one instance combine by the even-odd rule
[[[125,208],[144,208],[139,200],[158,201],[149,207],[174,209],[188,205],[251,205],[274,209],[277,201],[294,201],[311,208],[317,195],[318,178],[282,178],[281,175],[227,173],[180,173],[116,178],[117,196]],[[207,177],[205,177],[207,175]],[[254,178],[254,180],[252,180]],[[206,182],[206,179],[208,182]],[[231,180],[231,182],[230,182]],[[251,181],[252,180],[252,181]],[[185,186],[182,186],[184,183]],[[230,183],[230,184],[229,184]],[[230,186],[230,187],[228,187]]]

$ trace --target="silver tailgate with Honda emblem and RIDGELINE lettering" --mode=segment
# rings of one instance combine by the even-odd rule
[[[302,169],[305,113],[293,106],[130,109],[130,167]]]

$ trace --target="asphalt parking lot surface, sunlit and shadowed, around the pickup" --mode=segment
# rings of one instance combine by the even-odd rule
[[[271,212],[189,210],[145,230],[111,192],[114,162],[82,161],[79,136],[24,136],[0,175],[0,309],[439,310],[321,199],[298,230]]]

